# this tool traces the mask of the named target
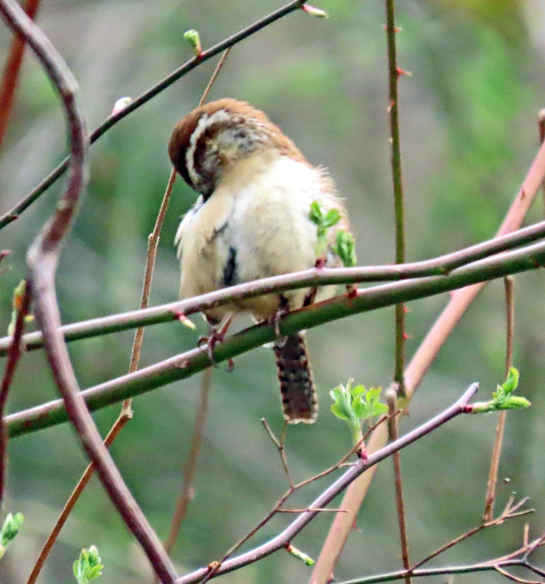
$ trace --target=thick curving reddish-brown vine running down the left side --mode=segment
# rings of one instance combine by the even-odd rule
[[[77,84],[70,69],[49,39],[28,18],[15,0],[0,0],[0,11],[8,25],[25,37],[57,89],[67,117],[70,136],[71,158],[68,185],[56,210],[42,233],[30,246],[27,254],[29,293],[34,301],[37,322],[42,329],[49,365],[57,387],[63,395],[68,416],[87,455],[95,464],[108,495],[125,520],[127,527],[142,544],[161,581],[172,582],[176,576],[174,566],[165,554],[153,529],[147,523],[146,517],[132,498],[108,450],[102,444],[91,414],[79,394],[67,346],[63,335],[58,331],[61,319],[54,277],[60,244],[64,235],[70,230],[71,220],[85,185],[85,124],[75,97]]]

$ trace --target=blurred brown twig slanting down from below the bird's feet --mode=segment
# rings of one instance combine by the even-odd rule
[[[184,468],[182,469],[182,476],[184,477],[184,481],[182,484],[180,496],[176,502],[173,518],[170,523],[170,531],[168,532],[167,541],[165,541],[165,550],[167,550],[168,554],[170,554],[178,539],[180,527],[185,519],[185,515],[187,514],[187,507],[193,498],[193,493],[195,490],[194,482],[197,470],[197,460],[199,457],[199,452],[201,451],[206,415],[208,413],[208,401],[212,382],[212,373],[212,367],[208,367],[208,369],[205,369],[202,373],[200,399],[195,415],[193,436],[191,439],[191,449],[189,450],[188,459],[184,464]]]

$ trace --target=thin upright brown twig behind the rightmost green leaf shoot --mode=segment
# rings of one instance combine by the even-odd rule
[[[505,284],[505,304],[506,304],[506,343],[505,343],[505,378],[513,365],[513,329],[515,326],[515,301],[513,299],[513,287],[515,280],[512,276],[503,279]],[[499,412],[498,425],[496,426],[496,437],[494,447],[492,447],[492,458],[490,461],[490,471],[488,473],[487,495],[485,496],[484,522],[490,521],[494,516],[494,500],[496,498],[496,485],[498,484],[499,458],[502,451],[503,432],[505,431],[505,420],[507,411]]]

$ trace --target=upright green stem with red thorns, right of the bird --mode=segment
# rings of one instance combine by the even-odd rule
[[[398,77],[395,46],[395,0],[385,0],[386,6],[386,38],[388,44],[388,87],[389,87],[389,119],[390,141],[392,145],[392,182],[394,183],[395,212],[395,262],[405,263],[405,211],[403,209],[403,176],[401,170],[401,141],[399,138],[399,103]],[[395,367],[394,381],[398,384],[398,393],[405,395],[405,307],[396,304],[395,307]]]

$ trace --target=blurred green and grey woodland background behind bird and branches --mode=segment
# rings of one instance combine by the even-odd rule
[[[280,6],[272,0],[49,0],[38,22],[80,84],[89,128],[121,96],[136,97],[191,57],[182,33],[198,29],[211,46]],[[330,169],[357,235],[360,262],[394,258],[389,169],[384,6],[320,0],[330,19],[293,13],[236,46],[210,99],[249,100],[284,129],[309,161]],[[491,237],[517,192],[538,145],[537,112],[545,106],[545,8],[540,0],[402,0],[397,5],[403,172],[408,259],[425,259]],[[0,29],[4,59],[11,33]],[[166,144],[174,123],[198,102],[215,62],[207,62],[131,114],[89,151],[90,181],[57,277],[64,322],[139,305],[147,235],[170,172]],[[4,150],[0,210],[11,208],[65,155],[58,99],[35,58],[27,55]],[[54,207],[63,181],[0,233],[12,250],[2,274],[0,329],[13,288],[25,275],[25,252]],[[151,302],[173,301],[178,263],[173,239],[195,193],[178,180],[163,229]],[[543,217],[536,200],[527,221]],[[408,355],[448,296],[411,303]],[[483,398],[504,368],[503,284],[490,284],[463,318],[427,374],[401,431],[434,415],[472,381]],[[201,331],[204,327],[196,319]],[[354,377],[388,387],[393,364],[393,310],[364,314],[309,331],[321,412],[312,427],[293,427],[287,456],[296,479],[337,461],[349,432],[329,412],[330,388]],[[515,490],[536,506],[532,535],[545,529],[545,326],[543,274],[516,277],[515,364],[530,411],[512,413],[502,455],[498,507]],[[242,324],[245,324],[244,321]],[[82,387],[126,372],[132,332],[70,346]],[[195,346],[176,324],[146,331],[142,366]],[[112,453],[160,537],[168,531],[189,449],[199,378],[134,400],[134,418]],[[56,397],[43,353],[25,354],[11,390],[10,412]],[[95,415],[105,433],[119,406]],[[270,350],[239,357],[232,373],[215,371],[199,458],[195,498],[173,558],[180,573],[219,559],[274,505],[286,484],[278,453],[259,419],[280,430],[278,381]],[[403,451],[411,556],[416,561],[478,524],[484,506],[496,416],[458,418]],[[23,512],[22,533],[0,562],[0,582],[25,582],[43,541],[85,467],[68,425],[9,444],[5,511]],[[292,502],[304,506],[325,487],[309,486]],[[2,515],[3,517],[3,515]],[[253,540],[261,543],[290,520],[282,515]],[[316,519],[294,544],[316,557],[330,515]],[[472,562],[508,552],[523,520],[487,531],[436,564]],[[72,581],[81,547],[98,545],[104,582],[151,582],[146,559],[92,479],[51,552],[40,582]],[[248,546],[246,546],[246,549]],[[539,556],[537,557],[539,559]],[[541,558],[543,559],[543,558]],[[391,463],[382,464],[336,570],[337,579],[397,568],[398,531]],[[310,569],[283,552],[223,577],[225,582],[305,582]],[[472,582],[477,576],[458,576]],[[492,573],[481,582],[501,579]],[[444,579],[437,580],[444,581]]]

